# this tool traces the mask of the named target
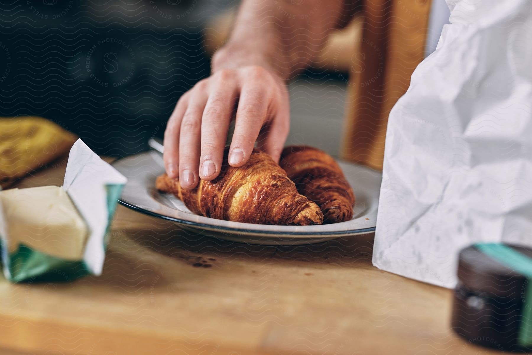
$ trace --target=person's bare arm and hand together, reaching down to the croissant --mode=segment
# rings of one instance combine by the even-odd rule
[[[225,159],[243,166],[255,143],[279,161],[290,126],[286,80],[318,56],[345,13],[343,0],[291,1],[243,0],[228,43],[213,56],[212,75],[180,97],[164,132],[163,159],[182,188],[216,178]]]

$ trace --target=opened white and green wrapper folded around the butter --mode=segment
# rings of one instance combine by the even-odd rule
[[[78,139],[66,164],[64,191],[88,229],[79,260],[67,260],[37,250],[20,241],[10,245],[6,212],[0,203],[0,242],[4,275],[12,282],[64,282],[85,275],[100,275],[109,237],[109,226],[126,177],[103,161]],[[11,239],[13,241],[13,239]]]

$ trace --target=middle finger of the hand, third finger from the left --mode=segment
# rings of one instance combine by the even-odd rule
[[[220,174],[223,150],[235,102],[236,86],[232,74],[220,71],[215,76],[201,125],[200,178],[210,181]]]

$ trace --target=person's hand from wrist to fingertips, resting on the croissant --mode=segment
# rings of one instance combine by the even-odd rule
[[[289,130],[287,87],[262,65],[219,69],[179,99],[164,132],[164,164],[183,188],[220,174],[229,123],[235,131],[229,148],[230,166],[242,166],[258,147],[279,160]]]

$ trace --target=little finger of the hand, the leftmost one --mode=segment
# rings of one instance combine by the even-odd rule
[[[188,106],[188,93],[181,95],[172,115],[168,120],[167,128],[164,131],[164,167],[168,176],[178,177],[179,171],[179,131],[181,129],[181,119]]]

